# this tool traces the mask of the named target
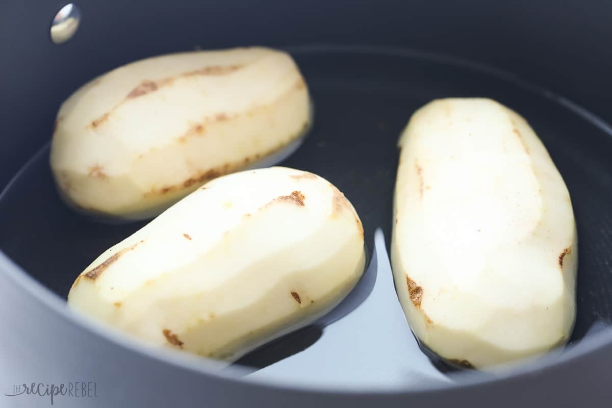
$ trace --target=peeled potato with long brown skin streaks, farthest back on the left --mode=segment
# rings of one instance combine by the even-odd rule
[[[64,102],[51,169],[82,212],[150,218],[204,182],[294,146],[309,122],[304,78],[282,51],[159,56],[105,73]]]

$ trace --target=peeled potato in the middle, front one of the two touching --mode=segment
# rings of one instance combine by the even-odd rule
[[[345,196],[273,167],[223,176],[102,253],[72,308],[159,346],[235,360],[337,305],[364,272]]]

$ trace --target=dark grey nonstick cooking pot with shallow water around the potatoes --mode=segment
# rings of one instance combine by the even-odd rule
[[[87,392],[56,395],[54,405],[608,406],[612,3],[80,0],[56,18],[64,6],[0,5],[1,407],[49,406],[47,385],[69,383]],[[76,275],[143,223],[73,213],[48,154],[60,103],[94,76],[157,54],[239,45],[296,59],[315,125],[282,165],[345,192],[370,263],[321,321],[221,366],[153,349],[65,306]],[[572,195],[580,239],[570,343],[495,375],[428,357],[405,322],[387,255],[398,135],[414,109],[463,96],[494,98],[534,127]]]

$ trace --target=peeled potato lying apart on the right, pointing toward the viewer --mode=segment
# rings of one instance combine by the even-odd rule
[[[392,266],[417,338],[455,365],[499,368],[567,341],[577,234],[540,139],[489,99],[436,100],[401,135]]]

